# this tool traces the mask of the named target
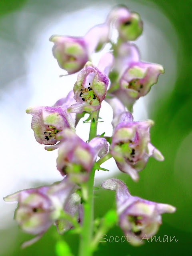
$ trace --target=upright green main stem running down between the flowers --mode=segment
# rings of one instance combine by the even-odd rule
[[[99,110],[92,112],[89,141],[92,138],[96,137],[98,116]],[[79,256],[92,256],[90,244],[92,242],[93,237],[94,223],[94,175],[95,168],[92,168],[89,180],[84,184],[84,186],[82,186],[82,194],[84,199],[84,217],[82,224]]]

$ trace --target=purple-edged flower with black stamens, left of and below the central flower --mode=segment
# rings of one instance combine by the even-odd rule
[[[65,128],[74,130],[75,116],[66,112],[66,108],[75,102],[73,96],[74,93],[70,91],[66,98],[58,100],[52,107],[36,106],[26,109],[26,113],[33,116],[31,128],[37,142],[53,145],[58,141],[56,134]]]

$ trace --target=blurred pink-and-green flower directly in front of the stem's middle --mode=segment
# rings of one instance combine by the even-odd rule
[[[102,157],[108,151],[106,139],[93,138],[86,143],[69,129],[58,137],[61,140],[59,144],[46,147],[49,151],[58,148],[58,170],[62,175],[68,174],[73,182],[86,181],[97,156]]]

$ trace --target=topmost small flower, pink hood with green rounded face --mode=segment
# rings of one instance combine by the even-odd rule
[[[136,40],[142,34],[143,23],[137,12],[130,12],[126,6],[115,7],[108,15],[107,22],[114,24],[119,37],[124,40]]]

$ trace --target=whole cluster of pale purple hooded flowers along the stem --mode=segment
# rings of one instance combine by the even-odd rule
[[[114,30],[118,34],[116,42],[112,40]],[[149,129],[154,122],[135,122],[131,114],[136,100],[146,95],[164,72],[161,65],[140,61],[137,47],[129,41],[136,40],[141,33],[139,14],[130,12],[125,6],[117,6],[103,24],[94,26],[83,37],[51,36],[53,55],[60,68],[68,74],[80,72],[73,91],[66,98],[53,106],[26,110],[32,114],[31,128],[36,141],[46,145],[47,151],[58,150],[56,168],[62,181],[4,198],[6,202],[18,202],[14,218],[24,231],[36,235],[24,246],[38,240],[52,224],[60,234],[78,227],[84,239],[87,232],[84,218],[92,216],[88,212],[92,207],[87,206],[92,202],[89,200],[93,194],[91,177],[97,169],[106,170],[100,165],[109,158],[113,157],[119,170],[129,174],[134,181],[138,181],[138,172],[145,168],[150,156],[164,160],[150,142]],[[111,44],[111,51],[95,66],[91,54],[102,50],[106,43]],[[113,110],[111,137],[96,135],[103,100]],[[85,113],[89,118],[84,122],[90,121],[86,142],[75,132]],[[100,159],[96,162],[97,157]],[[168,204],[131,196],[126,185],[117,179],[105,180],[102,188],[116,191],[119,226],[133,236],[133,245],[140,244],[144,234],[156,234],[162,213],[175,211]]]

